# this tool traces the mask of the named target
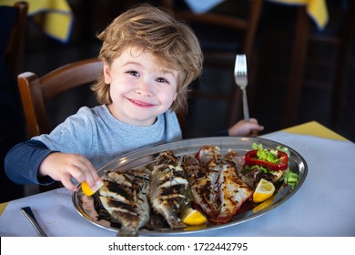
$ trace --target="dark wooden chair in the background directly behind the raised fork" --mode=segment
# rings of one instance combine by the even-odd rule
[[[252,69],[255,66],[253,47],[257,36],[263,1],[238,1],[238,5],[243,4],[247,7],[247,12],[244,12],[244,15],[228,15],[213,11],[196,14],[188,8],[179,9],[178,5],[181,2],[161,0],[160,4],[173,12],[177,18],[188,22],[195,30],[205,55],[205,67],[227,67],[230,69],[230,76],[232,76],[235,56],[237,54],[246,54],[249,58],[249,90],[251,90],[253,88],[252,84],[255,72]],[[229,2],[232,3],[231,1]],[[213,100],[227,100],[229,105],[228,126],[230,126],[238,119],[241,107],[240,90],[235,84],[232,88],[233,91],[228,95],[195,91],[192,96]],[[249,96],[252,97],[254,93],[250,92]]]

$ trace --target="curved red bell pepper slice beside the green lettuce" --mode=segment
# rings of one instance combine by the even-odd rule
[[[283,171],[288,168],[289,157],[283,151],[278,150],[278,163],[272,163],[263,159],[259,159],[257,153],[258,149],[250,150],[249,152],[247,152],[247,154],[245,155],[245,164],[247,166],[257,165],[272,171]]]

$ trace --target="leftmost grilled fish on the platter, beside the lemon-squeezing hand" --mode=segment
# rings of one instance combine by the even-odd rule
[[[103,182],[99,199],[110,220],[121,225],[117,235],[137,236],[149,220],[150,171],[147,168],[106,171]]]

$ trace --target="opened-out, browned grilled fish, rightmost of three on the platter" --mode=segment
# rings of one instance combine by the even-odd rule
[[[205,146],[195,157],[184,157],[184,168],[198,207],[210,221],[226,223],[240,206],[251,198],[253,190],[239,177],[234,159],[236,152],[228,151],[221,158],[220,148]]]

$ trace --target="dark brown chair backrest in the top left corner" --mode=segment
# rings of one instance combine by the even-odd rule
[[[2,17],[11,22],[8,32],[8,39],[5,42],[5,62],[10,71],[17,76],[24,61],[25,26],[27,21],[28,4],[16,2],[14,6],[1,6],[9,16],[2,14]],[[7,8],[7,10],[5,10]],[[2,35],[4,36],[4,35]],[[4,38],[3,38],[4,39]]]

